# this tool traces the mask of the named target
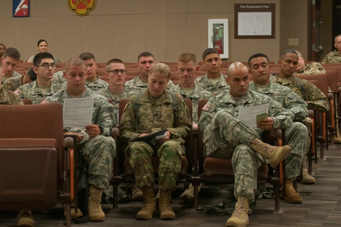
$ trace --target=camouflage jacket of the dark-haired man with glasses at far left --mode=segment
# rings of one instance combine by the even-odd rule
[[[63,88],[65,88],[64,85],[51,81],[50,88],[43,94],[38,87],[37,81],[32,81],[31,83],[18,87],[14,93],[20,98],[31,99],[33,104],[39,104],[41,101],[45,100],[46,97],[56,94]]]

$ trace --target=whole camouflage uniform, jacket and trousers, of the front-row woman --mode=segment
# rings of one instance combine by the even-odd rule
[[[135,125],[136,114],[134,111],[134,95],[127,104],[122,118],[122,138],[133,140],[142,133],[153,133],[161,129],[170,132],[170,139],[162,144],[149,144],[143,141],[130,142],[127,147],[127,157],[133,167],[136,185],[138,188],[150,188],[154,185],[154,172],[152,156],[160,158],[159,188],[162,190],[175,190],[175,182],[181,170],[181,156],[185,154],[184,139],[192,127],[190,113],[180,94],[175,93],[180,105],[179,110],[174,110],[169,91],[154,100],[147,88],[138,108],[138,123]]]

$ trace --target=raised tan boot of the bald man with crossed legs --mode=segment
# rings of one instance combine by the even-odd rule
[[[271,146],[258,139],[252,140],[250,146],[255,152],[266,158],[272,168],[275,168],[291,152],[288,145],[282,147]]]

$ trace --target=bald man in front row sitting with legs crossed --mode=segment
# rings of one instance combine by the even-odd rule
[[[229,66],[226,82],[230,89],[208,100],[198,126],[203,135],[205,157],[232,159],[234,195],[238,201],[226,226],[246,226],[249,203],[255,199],[258,167],[268,161],[274,168],[291,151],[287,145],[270,146],[258,138],[264,130],[290,127],[293,114],[267,95],[250,91],[248,68],[241,62]],[[240,107],[265,103],[269,103],[267,117],[257,123],[257,129],[238,119]]]

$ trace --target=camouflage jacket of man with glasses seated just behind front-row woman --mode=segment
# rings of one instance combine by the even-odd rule
[[[114,105],[114,112],[113,116],[116,119],[116,122],[118,122],[118,111],[119,111],[119,103],[122,99],[130,99],[133,95],[137,94],[139,90],[130,88],[130,87],[125,87],[123,88],[123,91],[120,95],[120,97],[116,98],[114,97],[113,93],[111,93],[109,86],[106,88],[103,88],[102,90],[98,91],[98,94],[103,95],[105,98],[110,99],[113,101]]]

